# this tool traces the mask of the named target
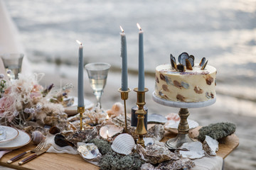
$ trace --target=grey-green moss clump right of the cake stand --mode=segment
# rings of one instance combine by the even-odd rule
[[[206,135],[212,137],[215,140],[220,140],[223,137],[232,135],[235,132],[235,124],[233,123],[215,123],[208,126],[204,126],[199,130],[198,140],[205,140]]]

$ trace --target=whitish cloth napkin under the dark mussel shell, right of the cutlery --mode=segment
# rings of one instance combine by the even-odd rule
[[[71,146],[60,147],[54,142],[55,135],[46,136],[46,146],[51,145],[47,152],[58,153],[58,154],[78,154],[78,149]]]

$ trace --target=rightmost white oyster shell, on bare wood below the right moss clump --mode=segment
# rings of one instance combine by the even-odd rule
[[[210,156],[215,156],[218,151],[218,141],[206,135],[206,139],[203,141],[203,150]]]

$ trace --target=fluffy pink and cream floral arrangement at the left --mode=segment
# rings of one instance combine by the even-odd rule
[[[14,81],[4,81],[0,84],[0,122],[24,128],[29,124],[65,126],[67,115],[63,113],[61,104],[50,103],[53,84],[43,89],[38,84],[44,74],[25,76],[18,75]],[[1,77],[1,74],[0,74]]]

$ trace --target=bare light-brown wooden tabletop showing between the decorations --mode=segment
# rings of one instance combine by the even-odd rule
[[[172,132],[166,132],[166,134],[164,135],[164,139],[161,141],[166,142],[166,140],[169,140],[169,138],[175,136],[176,134]],[[230,135],[225,138],[224,142],[225,144],[219,145],[219,150],[217,152],[217,155],[223,157],[223,159],[227,157],[228,154],[230,154],[230,152],[232,152],[236,147],[238,147],[239,139],[236,135]],[[34,147],[35,145],[30,143],[29,145],[26,145],[26,147],[22,147],[20,149],[16,149],[12,152],[9,152],[8,154],[5,154],[4,157],[1,158],[0,165],[7,166],[13,169],[99,169],[98,166],[85,162],[85,160],[82,159],[80,155],[74,154],[45,153],[37,157],[36,159],[33,159],[31,162],[28,162],[21,166],[18,165],[18,161],[12,164],[6,163],[9,159],[16,156],[17,154],[33,149]]]

